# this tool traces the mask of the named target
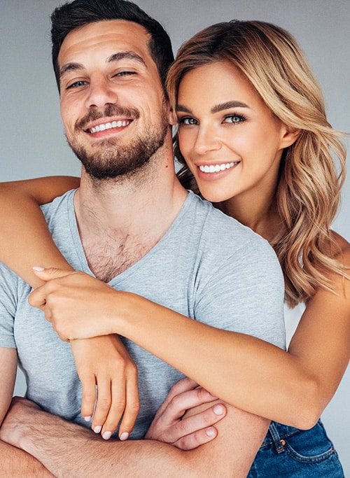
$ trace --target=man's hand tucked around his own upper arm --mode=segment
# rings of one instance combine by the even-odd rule
[[[195,381],[180,380],[158,409],[145,438],[169,443],[181,450],[192,450],[211,442],[217,435],[214,424],[226,414],[225,405],[216,403],[200,412],[194,409],[217,400]]]

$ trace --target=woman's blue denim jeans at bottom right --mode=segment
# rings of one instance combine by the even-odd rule
[[[311,430],[272,422],[248,478],[344,478],[321,421]]]

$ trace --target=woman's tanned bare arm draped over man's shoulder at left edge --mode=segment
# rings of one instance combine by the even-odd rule
[[[38,204],[78,188],[79,183],[79,178],[68,176],[0,183],[0,261],[32,287],[42,284],[32,271],[36,264],[71,269],[52,241]]]

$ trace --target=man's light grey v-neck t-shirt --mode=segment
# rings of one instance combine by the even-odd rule
[[[46,204],[43,212],[66,259],[92,274],[78,234],[73,194]],[[158,244],[109,284],[216,328],[285,346],[283,277],[274,251],[193,193]],[[27,398],[52,414],[90,426],[80,416],[81,386],[70,346],[57,337],[43,312],[28,304],[30,291],[1,265],[0,346],[18,349]],[[139,439],[183,375],[129,340],[124,343],[139,370],[141,410],[131,435]]]

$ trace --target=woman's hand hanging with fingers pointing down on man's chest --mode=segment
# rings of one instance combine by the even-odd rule
[[[118,335],[70,343],[83,386],[83,417],[90,421],[93,416],[92,430],[105,440],[109,440],[121,419],[119,437],[127,440],[139,413],[137,366]]]

